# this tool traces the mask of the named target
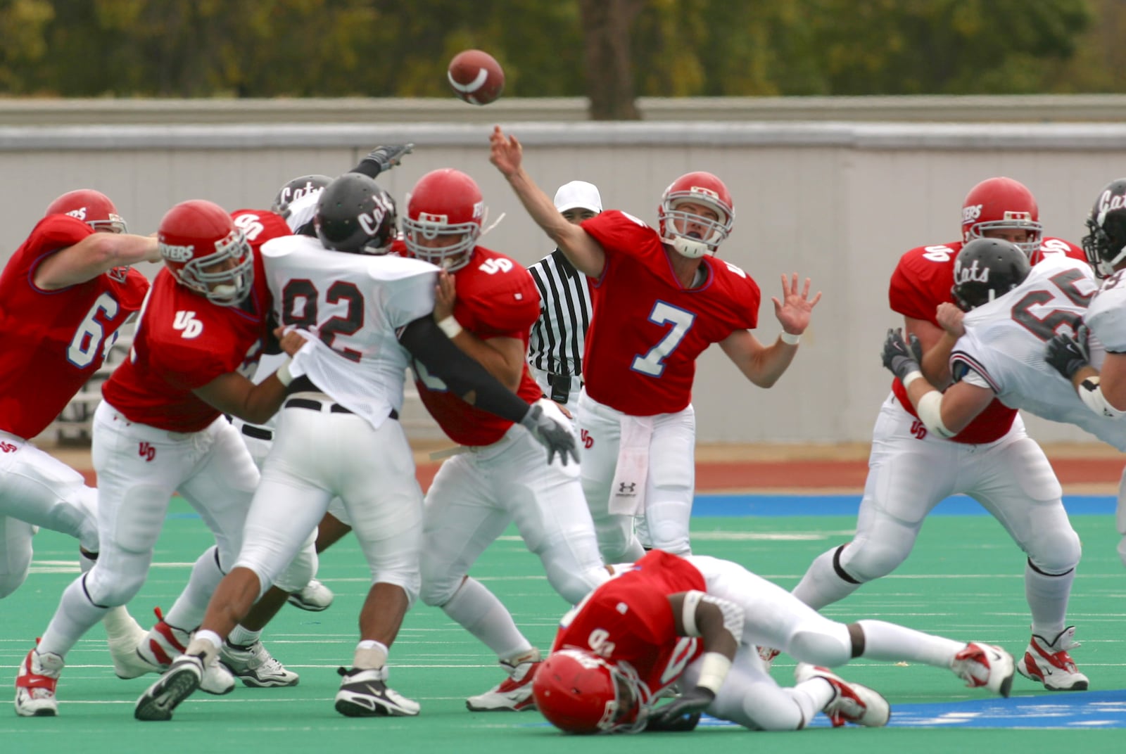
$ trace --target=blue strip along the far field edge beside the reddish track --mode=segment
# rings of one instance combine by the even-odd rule
[[[1115,512],[1114,495],[1065,495],[1070,515],[1106,515]],[[692,517],[747,515],[856,515],[860,495],[735,495],[698,494]],[[931,515],[990,515],[976,501],[965,495],[947,497]]]

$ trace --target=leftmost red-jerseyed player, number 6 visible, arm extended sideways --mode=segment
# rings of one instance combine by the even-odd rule
[[[83,571],[97,558],[97,491],[29,440],[101,367],[141,308],[149,281],[129,266],[160,252],[155,239],[125,231],[105,194],[69,191],[0,276],[0,599],[27,578],[38,527],[78,539]],[[105,622],[116,665],[120,645],[132,653],[141,629],[124,608]]]

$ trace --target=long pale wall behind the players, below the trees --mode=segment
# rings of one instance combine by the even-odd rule
[[[425,172],[458,168],[481,185],[490,222],[504,215],[485,245],[524,263],[552,248],[489,164],[488,122],[319,125],[278,116],[287,125],[44,125],[75,118],[24,123],[5,115],[0,107],[5,260],[65,190],[105,191],[132,231],[150,233],[177,201],[267,207],[287,179],[347,170],[372,146],[399,141],[413,141],[415,153],[381,183],[401,205]],[[890,385],[879,363],[884,332],[902,323],[887,308],[899,255],[957,240],[963,196],[999,174],[1033,190],[1049,235],[1078,242],[1098,189],[1126,176],[1126,126],[1111,123],[497,119],[524,142],[526,165],[549,194],[588,180],[608,208],[646,222],[655,221],[661,191],[680,173],[721,176],[736,221],[720,257],[762,288],[760,340],[778,334],[770,297],[783,273],[798,271],[824,291],[795,363],[770,391],[747,383],[718,349],[700,359],[694,401],[700,442],[867,441]],[[1027,421],[1044,441],[1089,439]]]

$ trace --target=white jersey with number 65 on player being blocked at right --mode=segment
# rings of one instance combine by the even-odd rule
[[[1036,264],[1015,289],[966,314],[966,334],[950,354],[955,378],[990,387],[1007,406],[1075,424],[1126,450],[1126,422],[1097,416],[1044,360],[1045,342],[1078,325],[1097,288],[1085,262],[1049,257]],[[1098,367],[1106,351],[1094,338],[1090,347]]]

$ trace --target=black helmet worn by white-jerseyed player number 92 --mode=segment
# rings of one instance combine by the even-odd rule
[[[313,224],[327,249],[354,254],[384,254],[395,239],[395,200],[361,173],[345,173],[329,183],[316,204]]]

